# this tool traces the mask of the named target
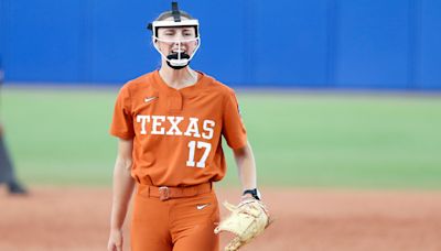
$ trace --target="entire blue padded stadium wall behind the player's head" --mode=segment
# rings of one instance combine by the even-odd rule
[[[193,67],[245,87],[441,89],[439,0],[181,1]],[[1,0],[7,81],[121,84],[159,66],[146,25],[170,1]]]

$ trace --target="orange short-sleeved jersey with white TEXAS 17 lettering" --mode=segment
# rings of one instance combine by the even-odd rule
[[[132,176],[153,186],[220,181],[226,172],[222,137],[232,149],[247,144],[234,90],[203,73],[179,90],[158,70],[127,83],[110,134],[133,140]]]

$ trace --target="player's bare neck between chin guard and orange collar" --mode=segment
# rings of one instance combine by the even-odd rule
[[[166,64],[162,64],[159,75],[168,86],[175,89],[194,85],[197,81],[197,73],[190,68],[190,66],[182,69],[173,69]]]

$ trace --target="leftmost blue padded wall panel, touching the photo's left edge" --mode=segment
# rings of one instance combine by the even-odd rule
[[[85,1],[2,0],[7,80],[79,83]]]

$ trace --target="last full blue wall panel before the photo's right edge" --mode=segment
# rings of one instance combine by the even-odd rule
[[[409,0],[340,1],[338,12],[336,85],[405,88]]]

